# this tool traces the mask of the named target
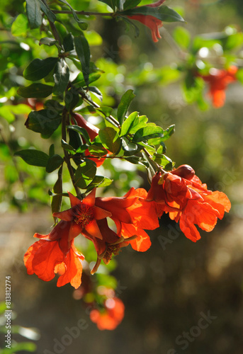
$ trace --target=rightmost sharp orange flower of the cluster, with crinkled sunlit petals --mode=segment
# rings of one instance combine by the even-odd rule
[[[193,175],[193,169],[184,166],[176,169],[177,175],[175,171],[154,175],[147,200],[161,205],[164,212],[169,212],[171,219],[179,222],[186,237],[196,242],[200,234],[195,225],[207,232],[212,231],[217,218],[222,219],[231,205],[225,193],[208,190],[207,185]]]

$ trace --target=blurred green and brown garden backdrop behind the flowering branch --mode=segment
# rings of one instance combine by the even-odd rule
[[[77,10],[89,6],[107,9],[104,4],[97,5],[98,1],[70,3]],[[0,99],[0,272],[3,280],[6,275],[11,276],[13,317],[16,316],[13,324],[33,329],[26,337],[35,340],[35,353],[242,353],[243,86],[239,81],[230,84],[222,108],[213,108],[207,86],[201,89],[203,103],[198,97],[190,101],[190,88],[185,88],[188,62],[183,54],[190,53],[190,43],[202,33],[216,33],[216,38],[217,33],[225,33],[225,28],[239,33],[242,4],[239,0],[168,0],[166,5],[176,8],[186,19],[187,23],[180,26],[191,38],[184,50],[180,40],[176,42],[174,31],[178,24],[166,23],[160,29],[162,39],[154,44],[149,29],[140,24],[140,37],[135,39],[134,30],[126,30],[120,21],[97,18],[90,23],[91,30],[99,33],[93,34],[92,60],[106,71],[97,86],[104,94],[104,105],[114,107],[126,89],[134,88],[136,98],[131,111],[147,115],[163,128],[175,124],[176,132],[166,144],[166,154],[176,161],[176,166],[193,166],[208,189],[226,193],[232,210],[217,222],[213,232],[200,232],[202,238],[196,244],[186,239],[169,217],[163,216],[161,227],[149,232],[152,246],[147,252],[123,249],[115,258],[118,266],[113,275],[118,280],[116,295],[125,304],[125,317],[114,331],[99,331],[89,319],[89,309],[74,298],[71,285],[57,288],[56,279],[43,282],[35,275],[27,275],[23,265],[23,254],[33,244],[33,234],[50,232],[47,185],[53,185],[56,175],[46,176],[43,169],[12,157],[13,152],[30,144],[45,148],[45,141],[38,142],[38,135],[24,127],[27,111],[21,115],[13,112],[13,118],[8,111],[10,118],[6,121],[4,99],[11,99],[16,87],[23,84],[21,73],[35,57],[35,50],[16,45],[20,41],[18,35],[8,33],[13,18],[23,12],[23,1],[3,1],[0,68],[3,87],[8,91],[1,92]],[[31,46],[31,39],[26,38],[25,43]],[[216,44],[220,45],[220,41]],[[217,45],[213,54],[210,51],[211,56],[215,55],[213,60],[221,50],[218,57],[223,55],[226,61],[232,60],[241,67],[240,40],[230,52]],[[51,51],[52,47],[49,55]],[[210,62],[212,58],[208,59]],[[60,139],[58,134],[50,140],[55,143],[55,139]],[[149,188],[145,171],[141,169],[137,176],[132,168],[133,165],[115,162],[111,166],[110,161],[103,164],[101,169],[114,178],[113,193],[123,195],[130,186]],[[69,181],[65,183],[68,189]],[[4,294],[3,282],[2,300]],[[67,341],[67,345],[58,347],[57,342],[65,341],[67,327],[77,326],[80,319],[84,320],[84,330],[72,343]],[[17,328],[16,332],[16,341],[26,341]]]

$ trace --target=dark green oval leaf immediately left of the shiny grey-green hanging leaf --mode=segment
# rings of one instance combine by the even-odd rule
[[[57,64],[58,58],[34,59],[23,71],[23,77],[27,80],[40,80],[47,76]]]

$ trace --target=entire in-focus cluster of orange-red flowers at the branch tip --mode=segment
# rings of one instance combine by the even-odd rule
[[[157,172],[149,192],[131,188],[123,197],[96,198],[96,188],[83,200],[69,193],[71,208],[53,215],[61,221],[47,235],[35,234],[40,240],[30,246],[24,256],[28,274],[35,273],[49,281],[60,275],[57,286],[68,282],[75,288],[81,284],[81,261],[84,256],[74,246],[79,234],[94,243],[97,261],[94,274],[103,260],[109,263],[121,247],[129,244],[136,251],[147,251],[151,245],[145,229],[159,227],[164,212],[179,222],[181,231],[196,242],[200,229],[210,232],[225,212],[230,200],[225,193],[211,191],[201,183],[191,166],[183,165],[171,172]],[[115,222],[116,232],[108,227]]]

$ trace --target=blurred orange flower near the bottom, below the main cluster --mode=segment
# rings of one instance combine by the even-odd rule
[[[118,297],[109,298],[104,304],[103,310],[93,309],[90,313],[90,319],[98,329],[115,329],[123,320],[125,306]]]

